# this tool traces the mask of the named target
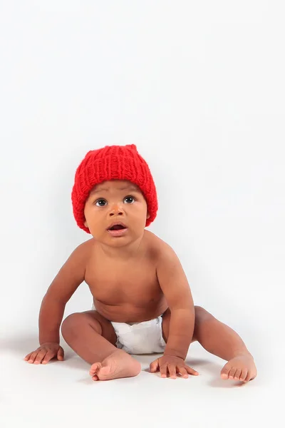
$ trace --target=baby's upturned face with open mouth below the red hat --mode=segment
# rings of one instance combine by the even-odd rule
[[[140,238],[150,217],[140,188],[127,180],[110,180],[96,185],[86,200],[84,215],[84,224],[91,235],[101,243],[115,247]]]

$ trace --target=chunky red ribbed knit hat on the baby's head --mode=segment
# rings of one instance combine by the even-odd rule
[[[105,180],[129,180],[138,185],[147,201],[150,218],[146,226],[155,220],[157,194],[150,168],[140,156],[135,144],[128,146],[105,146],[89,151],[76,170],[71,194],[73,215],[78,226],[90,233],[84,225],[84,207],[90,190]]]

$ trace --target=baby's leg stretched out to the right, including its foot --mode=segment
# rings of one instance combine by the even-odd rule
[[[228,361],[222,369],[222,379],[248,382],[257,376],[254,359],[241,337],[199,306],[195,306],[193,339],[211,354]]]

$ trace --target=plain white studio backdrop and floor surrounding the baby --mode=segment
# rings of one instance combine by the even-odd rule
[[[283,418],[283,2],[0,1],[0,37],[1,427]],[[130,143],[157,185],[150,230],[179,255],[195,304],[255,357],[244,387],[220,381],[224,361],[197,344],[187,381],[91,382],[66,345],[65,362],[22,361],[49,283],[90,238],[72,215],[78,163]],[[83,283],[66,315],[90,305]]]

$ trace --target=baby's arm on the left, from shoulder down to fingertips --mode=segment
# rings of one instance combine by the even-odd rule
[[[84,280],[89,247],[89,241],[79,245],[48,287],[38,320],[40,347],[26,355],[25,360],[28,362],[46,363],[58,356],[59,329],[63,313],[66,303]],[[63,350],[60,357],[63,360]]]

